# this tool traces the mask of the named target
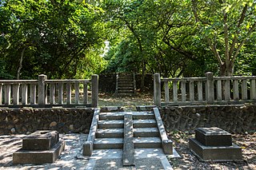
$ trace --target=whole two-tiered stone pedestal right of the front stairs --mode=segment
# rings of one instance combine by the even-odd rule
[[[231,134],[221,128],[197,128],[190,149],[202,161],[242,160],[242,149],[232,144]]]

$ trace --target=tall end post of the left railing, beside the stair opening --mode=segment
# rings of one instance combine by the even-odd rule
[[[98,108],[98,75],[91,76],[91,104],[93,108]]]

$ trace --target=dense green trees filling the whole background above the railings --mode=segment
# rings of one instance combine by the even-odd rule
[[[254,0],[0,3],[0,78],[256,75]]]

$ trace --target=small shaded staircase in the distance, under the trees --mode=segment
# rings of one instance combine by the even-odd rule
[[[136,93],[136,81],[133,73],[117,73],[116,96],[133,96]]]

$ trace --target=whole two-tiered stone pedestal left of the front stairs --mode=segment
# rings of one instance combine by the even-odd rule
[[[13,164],[54,163],[64,148],[57,131],[36,131],[22,139],[22,148],[13,153]]]

